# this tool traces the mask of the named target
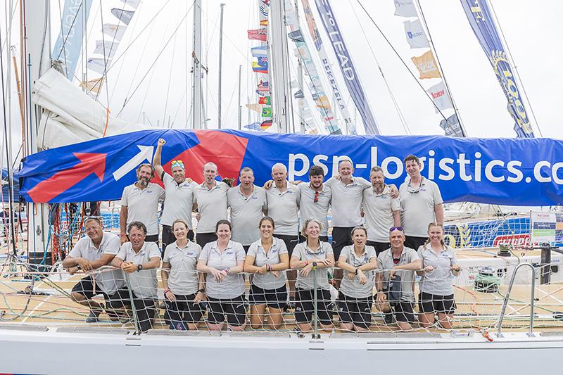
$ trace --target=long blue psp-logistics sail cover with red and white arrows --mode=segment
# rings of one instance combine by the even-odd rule
[[[203,165],[217,164],[221,177],[235,178],[251,167],[255,183],[270,179],[284,163],[290,180],[308,180],[312,165],[331,177],[340,160],[369,178],[375,165],[386,182],[400,185],[403,158],[412,153],[422,174],[440,186],[446,202],[502,205],[557,205],[563,202],[563,141],[555,139],[457,139],[447,136],[317,136],[234,130],[144,130],[42,151],[23,160],[20,195],[34,202],[119,199],[135,168],[152,160],[159,138],[162,161],[184,160],[186,175],[203,182]]]

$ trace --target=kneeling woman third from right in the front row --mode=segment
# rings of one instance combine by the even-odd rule
[[[348,331],[367,331],[372,325],[377,253],[373,246],[365,246],[367,230],[352,229],[351,246],[340,253],[338,267],[344,270],[339,291],[340,325]]]

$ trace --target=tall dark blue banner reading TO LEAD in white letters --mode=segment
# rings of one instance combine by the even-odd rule
[[[344,43],[339,24],[336,23],[336,18],[332,12],[329,0],[315,0],[315,4],[317,5],[317,11],[319,11],[321,15],[324,30],[326,30],[329,35],[330,44],[332,45],[332,49],[334,49],[334,54],[339,59],[340,70],[342,71],[344,82],[346,82],[346,87],[348,87],[350,96],[358,108],[358,112],[360,112],[360,116],[364,122],[366,134],[380,134],[372,109],[369,108],[369,103],[367,103],[364,89],[362,89],[360,77],[358,77],[358,72],[356,72],[356,69],[354,68],[352,58],[348,53],[346,43]]]

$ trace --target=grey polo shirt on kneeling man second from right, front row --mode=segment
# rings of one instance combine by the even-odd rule
[[[389,282],[389,269],[395,266],[406,265],[407,263],[414,262],[419,259],[418,254],[412,248],[403,248],[403,252],[400,254],[400,260],[396,265],[393,263],[393,254],[391,253],[391,248],[379,253],[377,257],[377,269],[385,270],[384,272],[384,283]],[[400,276],[400,298],[408,302],[415,302],[415,293],[412,291],[412,287],[415,284],[415,271],[407,271],[405,269],[398,269],[396,275]]]

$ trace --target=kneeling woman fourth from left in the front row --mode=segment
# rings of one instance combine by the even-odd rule
[[[244,249],[231,241],[232,225],[229,220],[219,220],[215,225],[217,241],[203,246],[197,270],[205,273],[205,292],[209,300],[208,327],[220,331],[224,320],[233,331],[244,331],[246,307],[244,305]]]

